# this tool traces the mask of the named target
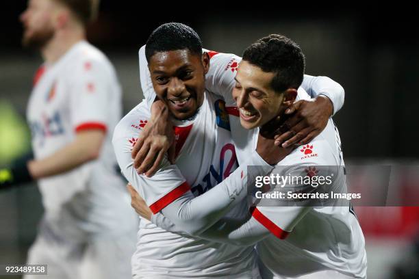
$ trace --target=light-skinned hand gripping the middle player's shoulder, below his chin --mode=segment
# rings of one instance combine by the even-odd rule
[[[156,101],[151,108],[151,119],[144,126],[131,151],[137,172],[153,176],[166,152],[170,163],[175,163],[174,138],[173,124],[168,119],[168,109],[162,101]]]

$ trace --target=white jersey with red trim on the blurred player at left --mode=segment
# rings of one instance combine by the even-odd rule
[[[86,41],[36,73],[27,106],[36,159],[70,144],[78,131],[103,129],[106,133],[99,159],[39,180],[45,218],[58,233],[79,238],[124,233],[136,226],[111,142],[121,109],[120,85],[112,64]]]

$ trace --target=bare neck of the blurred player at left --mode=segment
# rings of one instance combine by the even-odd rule
[[[53,64],[81,40],[86,40],[86,31],[83,27],[62,29],[55,33],[53,38],[40,49],[40,52],[47,64]]]

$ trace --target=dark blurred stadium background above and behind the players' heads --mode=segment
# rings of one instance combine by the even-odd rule
[[[27,85],[24,95],[29,94],[27,77],[37,66],[29,62],[40,61],[37,53],[23,50],[20,44],[18,14],[24,8],[25,1],[15,0],[2,9],[0,57],[8,68],[1,68],[1,97],[16,95],[10,76],[15,70],[21,75],[15,77],[18,84]],[[301,45],[308,74],[327,75],[344,86],[345,106],[335,120],[346,157],[412,158],[419,155],[419,148],[414,148],[419,135],[414,118],[419,104],[417,12],[413,6],[383,3],[357,7],[282,1],[261,6],[240,6],[240,2],[140,5],[109,0],[101,1],[89,40],[116,64],[129,109],[140,99],[136,52],[162,23],[186,23],[198,31],[206,48],[238,55],[257,38],[284,34]],[[11,86],[5,88],[5,83]]]

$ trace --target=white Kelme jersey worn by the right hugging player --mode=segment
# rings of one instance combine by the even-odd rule
[[[300,98],[308,98],[299,92]],[[305,146],[296,148],[272,173],[307,166],[343,166],[338,129],[333,120]],[[330,167],[329,167],[330,168]],[[301,168],[300,168],[301,170]],[[336,168],[336,192],[346,192],[344,168]],[[331,172],[327,172],[331,174]],[[322,269],[366,278],[365,239],[350,204],[346,207],[256,207],[253,218],[272,235],[257,243],[257,253],[274,278],[294,278]],[[262,271],[264,273],[264,271]],[[334,277],[338,278],[338,277]]]

